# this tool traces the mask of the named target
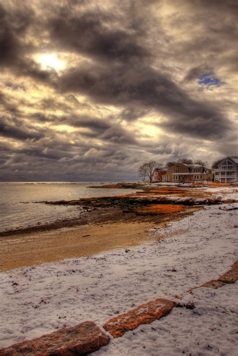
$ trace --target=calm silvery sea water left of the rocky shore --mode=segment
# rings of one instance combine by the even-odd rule
[[[132,189],[87,188],[89,185],[100,186],[102,182],[0,183],[0,232],[74,217],[81,210],[79,206],[36,204],[36,201],[71,200],[136,192]]]

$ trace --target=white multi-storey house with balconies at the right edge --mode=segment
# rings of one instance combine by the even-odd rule
[[[214,180],[220,183],[232,183],[238,181],[238,158],[226,157],[214,170]]]

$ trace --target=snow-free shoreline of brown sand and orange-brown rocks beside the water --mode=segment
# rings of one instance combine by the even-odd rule
[[[81,205],[83,212],[76,218],[0,233],[0,271],[136,246],[152,239],[148,229],[164,227],[203,209],[203,205],[237,201],[236,189],[218,191],[213,195],[207,189],[169,187],[130,195],[45,202]]]

